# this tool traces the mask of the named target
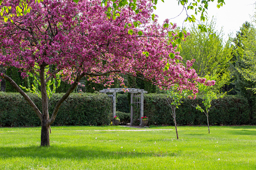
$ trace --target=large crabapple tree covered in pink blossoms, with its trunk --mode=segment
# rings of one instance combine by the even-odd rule
[[[9,12],[15,13],[19,2],[7,0],[2,6],[12,7]],[[182,57],[176,52],[176,44],[165,37],[176,25],[166,27],[166,20],[163,27],[157,20],[152,21],[152,3],[146,0],[137,2],[137,14],[128,4],[120,8],[116,18],[107,17],[108,6],[101,6],[99,0],[77,4],[44,0],[30,1],[28,5],[31,12],[27,15],[14,16],[13,21],[0,21],[0,65],[19,68],[23,77],[28,76],[28,72],[39,73],[42,110],[8,75],[0,74],[41,120],[41,146],[50,145],[49,126],[61,103],[84,76],[96,83],[105,81],[105,86],[117,78],[124,86],[120,74],[140,75],[139,78],[160,87],[178,84],[180,89],[192,90],[194,94],[198,92],[197,82],[205,83],[190,68],[193,62],[188,61],[187,66],[178,62]],[[132,24],[135,21],[139,23]],[[179,39],[176,34],[172,36]],[[55,70],[45,72],[48,66],[54,66]],[[58,74],[71,86],[49,115],[46,84]]]

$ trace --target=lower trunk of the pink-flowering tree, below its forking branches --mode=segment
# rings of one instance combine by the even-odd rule
[[[41,146],[50,146],[48,116],[46,116],[45,114],[43,114],[42,116]]]

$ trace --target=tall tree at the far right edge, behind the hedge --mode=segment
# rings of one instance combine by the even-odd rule
[[[245,22],[240,30],[236,33],[236,37],[232,39],[232,88],[235,90],[235,94],[243,96],[248,100],[251,110],[250,119],[252,122],[256,122],[255,110],[256,110],[256,96],[253,89],[255,88],[255,81],[253,76],[255,73],[255,28],[248,22]],[[248,74],[247,74],[248,73]]]

